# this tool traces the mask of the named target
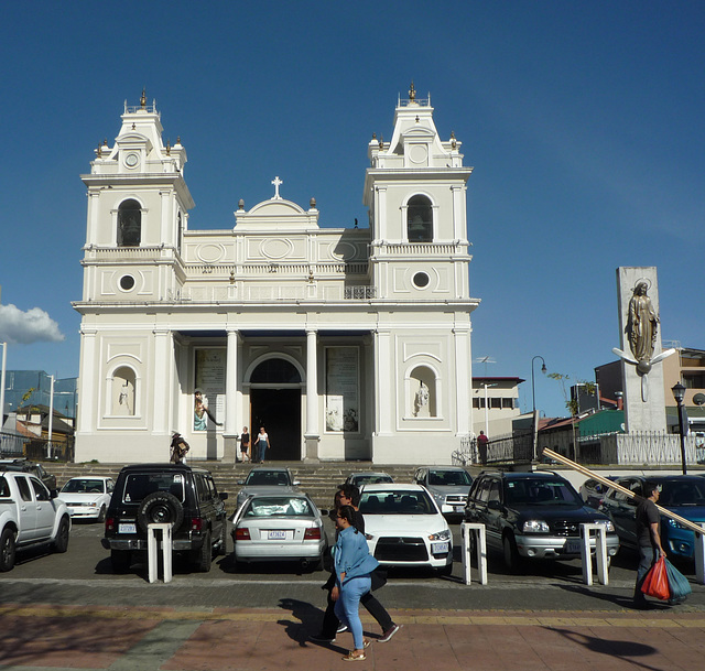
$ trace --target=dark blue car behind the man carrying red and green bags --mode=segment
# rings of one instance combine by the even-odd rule
[[[618,485],[639,497],[643,495],[647,483],[661,487],[659,506],[692,522],[705,522],[705,478],[696,475],[633,475],[617,479]],[[599,507],[599,510],[612,520],[620,544],[634,549],[637,548],[638,505],[639,499],[629,498],[617,489],[610,489]],[[662,515],[661,543],[669,556],[690,560],[695,552],[695,532]]]

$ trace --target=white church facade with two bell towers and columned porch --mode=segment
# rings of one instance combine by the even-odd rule
[[[273,196],[191,230],[186,151],[142,95],[96,151],[84,247],[76,461],[235,461],[264,426],[267,461],[448,464],[471,434],[471,322],[460,142],[427,99],[401,99],[368,147],[369,225],[319,225]],[[285,175],[283,175],[285,176]],[[271,176],[267,177],[268,180]]]

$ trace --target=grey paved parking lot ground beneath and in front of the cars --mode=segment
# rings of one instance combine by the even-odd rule
[[[628,608],[634,580],[636,556],[621,552],[611,563],[609,584],[586,586],[579,561],[535,562],[510,574],[499,555],[489,555],[489,582],[463,584],[459,524],[452,524],[455,564],[453,575],[431,571],[391,570],[379,598],[389,608],[501,608],[619,610]],[[333,528],[327,529],[333,539]],[[325,605],[319,586],[324,571],[301,572],[285,564],[256,564],[235,571],[231,539],[228,552],[214,561],[208,573],[195,573],[176,561],[174,580],[165,585],[147,582],[147,565],[135,564],[128,574],[112,572],[108,551],[100,545],[102,524],[73,524],[66,554],[33,549],[18,554],[17,566],[0,574],[2,602],[141,605],[275,607],[282,598]],[[682,609],[705,609],[705,586],[694,584],[693,564],[681,564],[693,584]],[[474,580],[477,572],[473,572]],[[138,596],[139,595],[139,596]]]

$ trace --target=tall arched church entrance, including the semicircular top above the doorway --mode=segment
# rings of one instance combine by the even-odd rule
[[[301,375],[285,359],[262,361],[250,376],[250,434],[257,440],[264,426],[271,450],[267,462],[301,459]]]

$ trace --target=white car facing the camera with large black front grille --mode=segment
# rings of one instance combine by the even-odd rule
[[[387,566],[453,571],[453,534],[420,485],[365,485],[360,499],[370,553]]]

